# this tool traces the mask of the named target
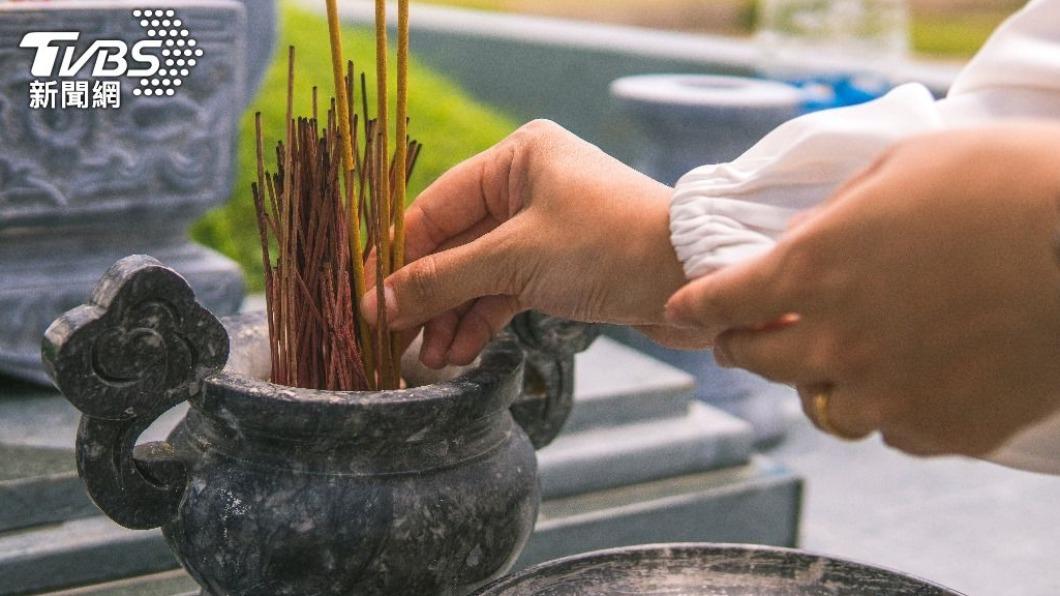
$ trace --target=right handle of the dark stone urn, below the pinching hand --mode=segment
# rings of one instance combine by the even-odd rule
[[[551,443],[575,405],[575,355],[600,334],[596,326],[536,312],[515,317],[509,326],[526,352],[523,392],[512,404],[512,417],[535,449]]]

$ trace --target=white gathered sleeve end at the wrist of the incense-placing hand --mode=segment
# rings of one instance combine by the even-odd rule
[[[670,239],[689,279],[772,248],[791,218],[827,199],[895,141],[941,127],[931,92],[898,87],[858,106],[791,120],[728,163],[685,175]]]

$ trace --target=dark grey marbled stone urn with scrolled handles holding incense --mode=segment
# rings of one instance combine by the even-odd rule
[[[508,572],[587,328],[525,314],[476,364],[376,392],[267,382],[266,334],[260,314],[214,318],[148,257],[49,328],[46,368],[84,414],[78,471],[107,515],[160,526],[215,596],[458,595]],[[186,401],[167,441],[136,444]]]

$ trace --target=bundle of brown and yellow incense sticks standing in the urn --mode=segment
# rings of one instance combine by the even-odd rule
[[[369,117],[360,75],[355,108],[352,63],[343,69],[335,0],[328,0],[335,97],[319,119],[295,118],[295,49],[289,49],[285,139],[277,143],[276,172],[265,169],[261,113],[255,117],[258,180],[251,185],[262,259],[272,382],[330,390],[392,389],[401,383],[401,346],[391,335],[383,280],[405,263],[404,208],[421,145],[408,122],[408,0],[399,2],[398,98],[393,155],[389,151],[387,16],[376,0],[376,117]],[[360,136],[363,135],[363,138]],[[272,255],[276,253],[273,260]],[[374,260],[369,256],[374,255]],[[374,264],[378,322],[360,316],[366,264]]]

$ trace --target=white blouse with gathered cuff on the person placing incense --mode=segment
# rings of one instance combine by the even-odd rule
[[[693,279],[760,255],[794,214],[828,198],[894,142],[1005,118],[1060,119],[1060,0],[1030,0],[1002,24],[944,100],[902,85],[867,104],[792,120],[735,161],[689,172],[670,209],[677,257]],[[1060,415],[991,459],[1060,474]]]

